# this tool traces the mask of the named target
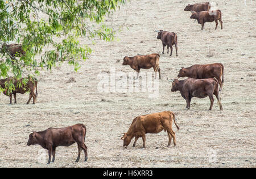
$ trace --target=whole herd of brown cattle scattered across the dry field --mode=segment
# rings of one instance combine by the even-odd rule
[[[203,4],[195,4],[188,5],[184,9],[185,11],[191,11],[191,19],[196,19],[199,24],[202,25],[202,30],[204,28],[205,22],[216,22],[216,28],[218,25],[218,20],[221,23],[222,28],[222,20],[221,20],[221,11],[220,10],[210,10],[210,3]],[[155,30],[156,31],[156,30]],[[176,48],[176,56],[177,56],[177,35],[174,32],[167,31],[156,31],[158,32],[157,39],[162,40],[163,44],[163,52],[164,48],[167,46],[167,53],[169,53],[169,47],[171,48],[170,56],[172,56],[172,46],[175,45]],[[4,44],[2,49],[6,49],[12,58],[18,57],[25,52],[22,50],[22,45],[19,44]],[[135,56],[135,57],[125,57],[123,58],[122,65],[129,65],[132,69],[137,71],[137,78],[139,77],[139,72],[141,69],[151,69],[153,68],[155,71],[155,78],[157,73],[159,73],[159,79],[161,78],[160,67],[159,67],[159,54],[150,54],[146,56]],[[222,76],[222,78],[221,78]],[[180,91],[181,96],[187,102],[187,108],[190,108],[190,103],[192,97],[205,98],[209,97],[210,99],[210,108],[212,110],[213,107],[213,95],[217,97],[218,106],[220,110],[222,110],[221,98],[219,91],[222,90],[224,83],[224,66],[221,63],[213,63],[208,65],[193,65],[191,67],[182,67],[177,75],[180,77],[188,77],[185,80],[173,79],[169,80],[172,82],[172,92]],[[168,80],[168,78],[167,78]],[[10,97],[10,104],[12,104],[12,95],[14,95],[15,103],[16,103],[16,93],[26,93],[30,92],[30,98],[27,101],[27,104],[30,103],[31,98],[33,97],[33,104],[36,103],[36,97],[38,96],[37,80],[33,78],[29,78],[27,84],[24,84],[23,79],[0,79],[0,86],[3,89],[3,93]],[[15,90],[10,90],[7,87],[7,84],[12,82],[15,86]],[[18,85],[19,84],[19,85]],[[133,122],[127,133],[123,133],[122,140],[123,146],[128,146],[131,142],[131,139],[135,137],[135,141],[133,147],[137,140],[142,137],[143,147],[146,147],[146,134],[147,133],[160,133],[160,131],[167,131],[169,142],[168,146],[171,144],[171,139],[174,139],[174,146],[176,146],[176,137],[175,132],[172,130],[172,122],[175,123],[177,129],[179,130],[179,126],[177,126],[175,122],[175,114],[170,111],[165,111],[161,113],[148,114],[144,116],[138,116],[134,118]],[[55,150],[56,147],[59,146],[71,146],[73,143],[77,143],[79,155],[77,157],[76,162],[80,159],[81,151],[84,150],[85,153],[85,161],[88,159],[87,156],[87,147],[85,146],[85,135],[86,135],[86,127],[83,124],[77,124],[65,128],[49,128],[45,131],[35,132],[33,131],[28,139],[27,145],[30,146],[32,144],[39,144],[43,148],[48,150],[49,160],[48,164],[55,160]]]

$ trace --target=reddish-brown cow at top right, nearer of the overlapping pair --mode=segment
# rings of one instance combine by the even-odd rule
[[[202,30],[204,29],[204,23],[206,22],[213,22],[215,21],[217,29],[218,27],[218,20],[221,24],[221,29],[223,29],[223,22],[221,19],[221,11],[220,10],[213,10],[213,11],[201,11],[201,12],[192,12],[190,17],[191,19],[196,19],[199,24],[202,25]]]

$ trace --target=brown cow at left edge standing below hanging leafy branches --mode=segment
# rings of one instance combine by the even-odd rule
[[[22,95],[26,92],[30,92],[30,99],[28,99],[27,104],[30,104],[30,100],[33,97],[33,104],[36,103],[36,97],[38,97],[38,81],[35,79],[30,78],[27,82],[27,84],[23,84],[23,79],[14,79],[14,78],[6,78],[6,79],[0,79],[0,88],[2,88],[3,94],[6,96],[10,96],[10,104],[12,104],[12,99],[14,96],[14,103],[16,104],[16,93],[21,93]],[[11,91],[8,87],[6,87],[6,84],[14,85],[14,90]],[[34,92],[36,89],[36,92]]]

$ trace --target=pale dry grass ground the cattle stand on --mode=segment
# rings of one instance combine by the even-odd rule
[[[198,2],[198,1],[197,1]],[[9,105],[9,97],[0,95],[0,167],[256,167],[256,1],[220,1],[224,29],[215,23],[201,25],[184,11],[187,1],[131,1],[108,19],[117,31],[112,42],[95,40],[92,55],[81,63],[78,73],[64,64],[50,73],[42,71],[38,83],[38,101],[26,105],[28,94],[18,94],[18,104]],[[191,3],[196,3],[192,1]],[[238,8],[239,7],[239,10]],[[162,42],[156,29],[176,32],[179,56],[162,54]],[[175,49],[175,48],[174,48]],[[167,50],[166,50],[167,52]],[[160,54],[162,79],[159,95],[149,92],[98,91],[99,74],[112,69],[123,73],[133,70],[122,66],[125,56]],[[176,78],[180,67],[220,62],[225,66],[223,111],[214,97],[192,99],[191,109],[179,92],[171,92],[168,78]],[[153,69],[142,70],[153,72]],[[68,82],[74,78],[76,82]],[[127,148],[119,135],[125,133],[137,116],[171,110],[176,114],[177,146],[167,147],[168,135],[146,135],[137,147]],[[84,123],[88,161],[75,163],[77,145],[59,147],[55,163],[47,165],[47,151],[26,146],[32,130],[65,127]]]

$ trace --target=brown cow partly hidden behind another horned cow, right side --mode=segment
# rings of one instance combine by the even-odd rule
[[[181,67],[180,73],[177,75],[177,77],[196,79],[216,78],[220,84],[220,90],[222,90],[224,83],[224,66],[222,63],[213,63],[208,65],[193,65],[188,68]]]

